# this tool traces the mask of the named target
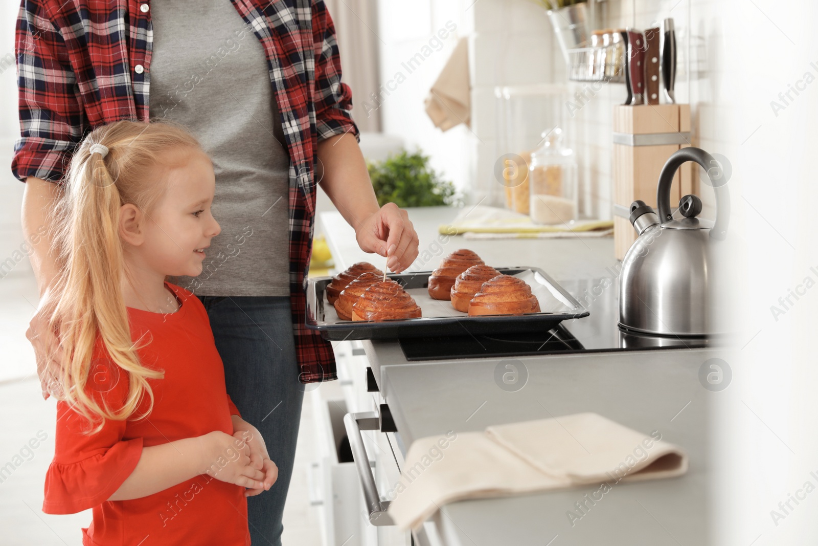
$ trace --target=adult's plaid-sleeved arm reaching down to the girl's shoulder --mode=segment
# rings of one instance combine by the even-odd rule
[[[49,2],[22,2],[15,34],[20,139],[11,159],[11,172],[27,182],[21,216],[26,239],[32,246],[30,259],[41,301],[58,273],[48,229],[48,214],[60,192],[56,181],[64,176],[64,167],[83,136],[87,119],[76,93],[70,52],[59,25],[51,20],[52,11]],[[37,310],[26,336],[34,346],[43,399],[49,394],[60,398],[62,393],[53,372],[55,366],[59,368],[60,351],[44,315],[42,307]]]

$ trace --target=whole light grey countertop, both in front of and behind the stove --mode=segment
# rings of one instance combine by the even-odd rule
[[[408,212],[420,238],[420,256],[410,271],[434,269],[452,250],[470,248],[487,264],[543,268],[558,282],[568,279],[578,287],[598,287],[591,279],[609,279],[605,296],[617,290],[613,238],[466,241],[438,235],[438,225],[451,221],[460,210],[434,207]],[[384,258],[357,247],[353,229],[339,213],[322,213],[321,221],[336,268],[362,260],[383,267]],[[610,297],[589,300],[572,293],[592,315],[594,306],[611,305]],[[429,537],[436,535],[432,544],[708,544],[708,402],[713,393],[699,383],[698,373],[705,360],[718,354],[716,350],[410,363],[396,341],[365,341],[364,347],[392,410],[402,453],[424,435],[593,411],[645,435],[658,430],[664,440],[679,444],[690,455],[685,476],[613,485],[584,515],[574,503],[598,486],[449,503],[435,515],[434,525],[425,527]],[[525,386],[516,392],[502,390],[494,380],[497,366],[508,360],[528,374]],[[573,526],[569,510],[582,515]]]

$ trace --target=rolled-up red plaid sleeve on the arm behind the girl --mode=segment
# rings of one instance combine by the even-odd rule
[[[47,16],[43,0],[22,0],[17,16],[20,138],[11,172],[59,182],[83,136],[83,109],[65,41]]]

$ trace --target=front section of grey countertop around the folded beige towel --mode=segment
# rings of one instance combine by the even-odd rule
[[[481,431],[500,423],[595,412],[645,436],[659,431],[690,457],[690,469],[679,478],[611,481],[612,489],[596,503],[588,502],[586,512],[574,503],[585,501],[585,494],[591,497],[600,485],[443,505],[433,518],[443,544],[702,546],[710,544],[708,407],[714,393],[703,388],[698,373],[714,354],[651,350],[387,365],[381,394],[404,446],[450,430]],[[496,368],[509,362],[528,375],[515,392],[495,381]],[[573,525],[569,511],[580,517]]]

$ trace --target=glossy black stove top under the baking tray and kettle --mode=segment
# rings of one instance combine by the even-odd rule
[[[485,356],[587,353],[618,350],[694,349],[712,340],[640,336],[618,327],[618,278],[558,281],[591,312],[563,321],[544,332],[503,335],[426,336],[399,338],[409,361],[465,359]]]

